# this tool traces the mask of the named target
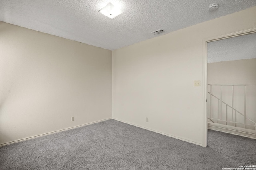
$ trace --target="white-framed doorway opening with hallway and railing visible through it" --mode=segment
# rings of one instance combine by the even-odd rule
[[[207,129],[256,139],[256,28],[203,40]]]

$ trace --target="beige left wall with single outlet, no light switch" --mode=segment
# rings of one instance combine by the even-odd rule
[[[112,51],[0,22],[0,144],[111,118],[111,104]]]

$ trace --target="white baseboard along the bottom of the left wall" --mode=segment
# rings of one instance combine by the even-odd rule
[[[90,122],[90,123],[85,123],[85,124],[82,124],[82,125],[78,125],[78,126],[74,126],[74,127],[69,127],[69,128],[66,128],[66,129],[61,129],[61,130],[58,130],[58,131],[52,131],[52,132],[49,132],[49,133],[43,133],[43,134],[41,134],[41,135],[35,135],[35,136],[32,136],[32,137],[27,137],[27,138],[23,138],[23,139],[18,139],[18,140],[16,140],[16,141],[11,141],[11,142],[7,142],[7,143],[2,143],[2,144],[0,144],[0,147],[5,146],[5,145],[10,145],[10,144],[13,144],[13,143],[18,143],[18,142],[26,141],[26,140],[29,140],[29,139],[34,139],[34,138],[37,138],[37,137],[42,137],[42,136],[46,136],[46,135],[51,135],[51,134],[58,133],[58,132],[62,132],[62,131],[67,131],[67,130],[70,130],[70,129],[75,129],[75,128],[82,127],[82,126],[92,125],[92,124],[94,124],[94,123],[99,123],[99,122],[106,121],[106,120],[110,120],[110,119],[112,119],[112,118],[102,119],[102,120],[99,120],[99,121],[94,121],[94,122]]]

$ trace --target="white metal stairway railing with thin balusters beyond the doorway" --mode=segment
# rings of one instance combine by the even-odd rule
[[[210,119],[210,121],[215,120],[215,121],[217,121],[217,123],[219,123],[219,121],[222,121],[222,122],[226,122],[225,123],[226,125],[227,125],[227,123],[232,123],[234,126],[236,126],[236,124],[242,124],[242,125],[244,125],[244,128],[246,128],[246,125],[248,125],[248,126],[254,127],[254,129],[256,130],[256,122],[246,116],[246,96],[247,96],[246,87],[247,86],[256,86],[256,85],[208,84],[208,86],[210,86],[210,92],[208,92],[210,94],[210,100],[209,100],[209,102],[210,102],[210,108],[209,108],[210,111],[209,111],[209,117],[208,117],[208,119]],[[212,94],[212,86],[220,86],[220,98],[218,98],[217,96]],[[229,104],[227,104],[227,102],[224,102],[222,100],[222,86],[232,86],[232,104],[231,104],[231,106]],[[237,109],[234,109],[234,86],[244,86],[244,114],[242,114]],[[217,119],[212,118],[212,97],[214,97],[218,100],[218,116],[217,116]],[[222,104],[225,104],[225,106],[226,106],[226,114],[225,114],[226,118],[225,118],[225,120],[222,119]],[[231,121],[227,120],[228,107],[230,107],[232,109]],[[236,113],[239,113],[240,115],[242,115],[244,117],[244,123],[237,122]],[[246,120],[249,120],[254,125],[246,123]],[[212,121],[212,122],[214,122],[214,121]]]

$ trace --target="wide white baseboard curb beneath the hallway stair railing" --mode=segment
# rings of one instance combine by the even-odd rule
[[[222,124],[212,123],[212,122],[208,122],[208,129],[256,139],[256,131],[251,129],[244,129],[241,127],[222,125]]]

